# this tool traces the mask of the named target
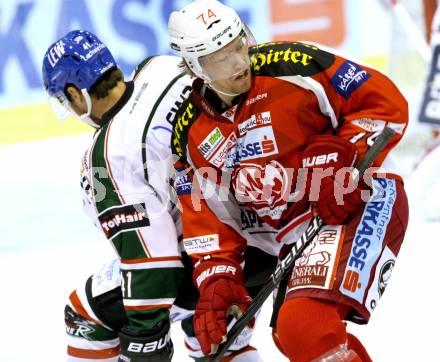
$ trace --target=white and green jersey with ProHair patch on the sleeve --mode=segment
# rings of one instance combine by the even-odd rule
[[[167,318],[183,278],[178,210],[170,202],[171,122],[191,91],[180,58],[147,58],[82,160],[86,212],[117,252],[134,330]]]

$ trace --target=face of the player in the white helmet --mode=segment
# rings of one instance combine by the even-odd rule
[[[230,94],[242,94],[252,83],[248,43],[238,36],[231,43],[201,59],[204,73],[214,89]]]

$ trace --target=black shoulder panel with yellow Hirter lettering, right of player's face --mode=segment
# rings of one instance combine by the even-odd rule
[[[335,55],[311,44],[272,42],[250,51],[252,72],[263,76],[311,76],[329,68]]]

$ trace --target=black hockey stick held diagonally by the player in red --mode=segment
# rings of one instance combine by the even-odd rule
[[[368,167],[371,166],[373,161],[376,159],[380,151],[388,144],[391,137],[394,135],[394,131],[387,127],[383,132],[377,137],[374,144],[365,154],[364,158],[359,161],[356,168],[353,170],[353,176],[356,180],[365,173]],[[257,296],[253,299],[249,308],[243,315],[237,320],[237,322],[232,326],[228,332],[226,342],[221,344],[218,348],[217,354],[215,354],[210,361],[220,362],[220,359],[227,352],[228,348],[234,343],[235,339],[255,316],[258,310],[262,307],[269,295],[275,290],[276,286],[280,281],[290,273],[293,268],[295,260],[301,255],[304,249],[310,244],[314,237],[318,234],[319,230],[324,225],[322,219],[319,216],[314,216],[307,226],[306,231],[301,235],[300,239],[293,244],[290,252],[281,260],[275,271],[272,273],[270,279],[266,282]]]

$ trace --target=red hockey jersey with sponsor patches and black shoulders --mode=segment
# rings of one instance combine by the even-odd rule
[[[219,111],[199,80],[175,118],[176,168],[191,169],[175,187],[185,248],[196,260],[242,261],[239,203],[276,229],[310,216],[308,198],[295,191],[301,152],[312,136],[348,139],[362,157],[384,127],[392,127],[396,134],[374,164],[386,170],[407,125],[407,102],[385,75],[314,45],[260,45],[251,67],[252,86],[233,107]]]

